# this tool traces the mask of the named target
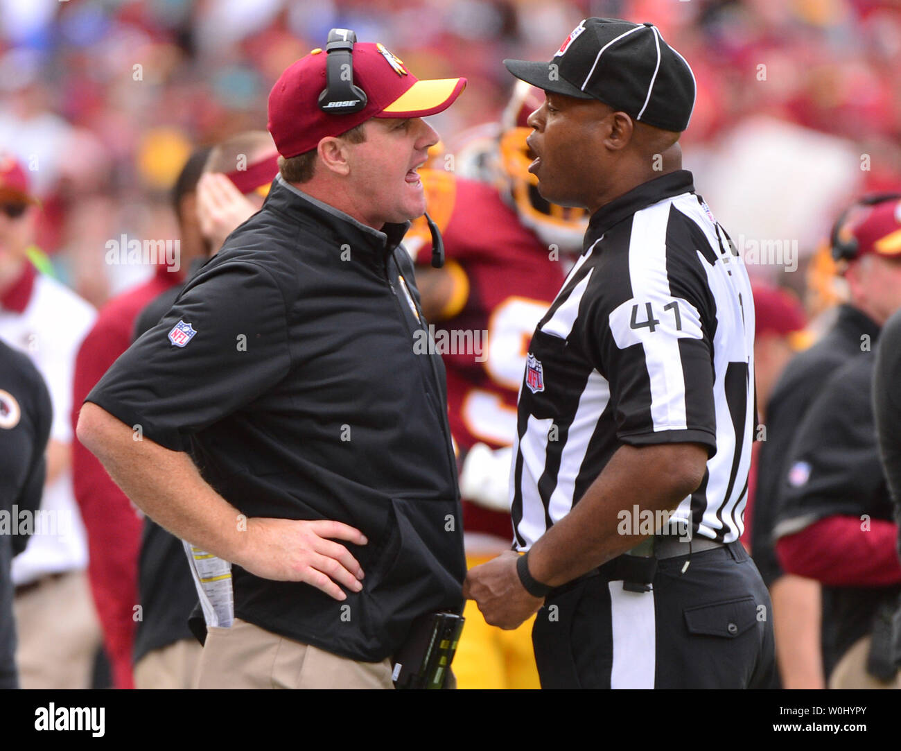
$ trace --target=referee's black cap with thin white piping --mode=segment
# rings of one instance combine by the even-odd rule
[[[551,62],[504,60],[532,86],[599,99],[633,119],[681,133],[695,106],[695,74],[653,23],[586,18]]]

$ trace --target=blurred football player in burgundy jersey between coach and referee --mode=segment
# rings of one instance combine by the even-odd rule
[[[444,267],[431,266],[423,218],[405,238],[447,370],[469,568],[510,549],[510,445],[526,351],[587,225],[583,209],[544,201],[527,171],[532,128],[525,120],[543,100],[541,90],[520,82],[493,133],[479,128],[478,139],[443,160],[448,169],[439,155],[432,160],[437,169],[420,170],[429,215],[444,240]],[[488,626],[473,601],[464,615],[454,658],[461,689],[539,688],[532,619],[503,631]]]

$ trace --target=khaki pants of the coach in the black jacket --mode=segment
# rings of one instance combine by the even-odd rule
[[[198,689],[393,689],[391,661],[359,663],[235,618],[211,627]]]

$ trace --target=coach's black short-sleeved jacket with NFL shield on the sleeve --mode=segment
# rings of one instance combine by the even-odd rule
[[[393,655],[417,616],[463,604],[444,368],[414,350],[427,325],[408,226],[378,232],[277,178],[87,397],[189,451],[246,517],[359,528],[363,590],[342,602],[233,577],[236,617],[364,661]]]

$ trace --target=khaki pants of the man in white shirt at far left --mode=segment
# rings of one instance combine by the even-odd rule
[[[83,571],[43,579],[14,600],[23,689],[88,689],[101,643]]]

